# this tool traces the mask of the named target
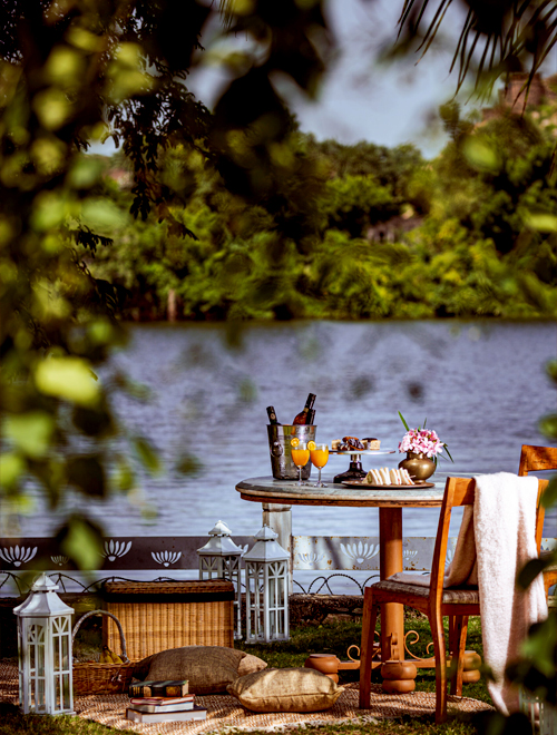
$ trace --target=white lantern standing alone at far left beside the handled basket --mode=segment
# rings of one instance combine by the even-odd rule
[[[71,614],[47,575],[38,577],[18,616],[19,704],[37,715],[74,714]]]

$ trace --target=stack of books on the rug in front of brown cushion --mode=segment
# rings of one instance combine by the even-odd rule
[[[195,704],[187,682],[133,682],[126,719],[138,723],[206,719],[207,709]]]

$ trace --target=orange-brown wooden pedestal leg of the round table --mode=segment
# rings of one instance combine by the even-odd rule
[[[401,508],[379,509],[379,543],[380,577],[387,579],[403,570]],[[404,606],[398,602],[381,606],[381,660],[384,690],[402,694],[414,689],[416,667],[403,663]]]

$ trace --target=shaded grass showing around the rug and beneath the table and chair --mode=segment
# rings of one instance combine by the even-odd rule
[[[407,615],[405,627],[407,630],[414,629],[420,635],[420,645],[412,647],[413,653],[426,655],[426,645],[430,640],[427,619],[419,614]],[[335,654],[341,660],[346,660],[349,646],[360,644],[360,631],[361,626],[359,623],[344,620],[320,626],[306,625],[292,629],[291,640],[285,643],[252,646],[237,641],[236,648],[260,656],[267,661],[268,666],[278,668],[303,666],[307,656],[313,653],[331,653]],[[479,618],[470,618],[467,648],[473,649],[480,655],[482,654]],[[351,651],[356,658],[355,653]],[[340,684],[358,680],[358,670],[341,672]],[[375,672],[373,677],[373,680],[381,680],[379,672]],[[419,669],[416,682],[418,690],[434,690],[434,670]],[[491,702],[483,679],[480,679],[477,684],[465,685],[463,695],[482,702]],[[21,715],[17,707],[0,704],[0,735],[21,733],[32,733],[32,735],[106,735],[109,732],[114,733],[115,731],[79,717]],[[156,728],[153,732],[155,734]],[[473,721],[452,719],[443,725],[436,725],[433,717],[404,717],[402,719],[381,721],[377,725],[367,723],[365,725],[346,724],[304,728],[304,735],[312,735],[313,732],[319,732],[320,735],[328,733],[345,733],[345,735],[359,735],[359,733],[365,733],[367,735],[394,735],[397,733],[427,735],[430,732],[440,735],[451,733],[455,735],[469,735],[478,732],[478,727]]]

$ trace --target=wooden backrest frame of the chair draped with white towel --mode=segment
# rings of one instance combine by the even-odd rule
[[[541,531],[544,527],[544,511],[540,504],[541,496],[548,486],[548,480],[538,480],[538,498],[536,513],[536,545],[541,546]],[[451,522],[451,512],[453,508],[460,506],[473,506],[476,494],[476,480],[473,478],[447,478],[444,486],[443,502],[439,516],[439,526],[437,529],[436,547],[433,551],[433,561],[431,565],[431,594],[442,595],[444,564],[447,559],[447,546],[449,543],[449,528]]]

